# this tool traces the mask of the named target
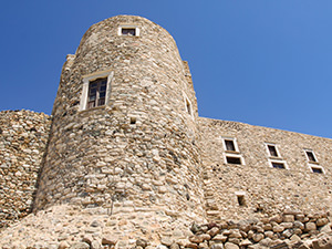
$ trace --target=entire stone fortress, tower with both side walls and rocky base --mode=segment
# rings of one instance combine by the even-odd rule
[[[101,77],[105,104],[90,108]],[[144,18],[87,30],[63,65],[51,128],[44,114],[0,115],[2,226],[33,199],[3,248],[329,243],[332,141],[199,117],[187,62]]]

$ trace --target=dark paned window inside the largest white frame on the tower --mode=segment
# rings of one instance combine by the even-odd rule
[[[93,108],[105,104],[107,79],[97,79],[90,82],[87,94],[87,107]]]

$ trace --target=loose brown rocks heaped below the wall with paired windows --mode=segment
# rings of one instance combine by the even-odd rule
[[[186,248],[307,248],[322,235],[331,232],[331,217],[328,214],[304,215],[284,212],[270,218],[225,221],[220,224],[193,225]],[[332,246],[332,245],[331,245]]]

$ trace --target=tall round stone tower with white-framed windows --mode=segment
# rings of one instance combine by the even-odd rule
[[[203,217],[197,102],[169,33],[144,18],[92,25],[69,55],[34,210],[154,210]]]

